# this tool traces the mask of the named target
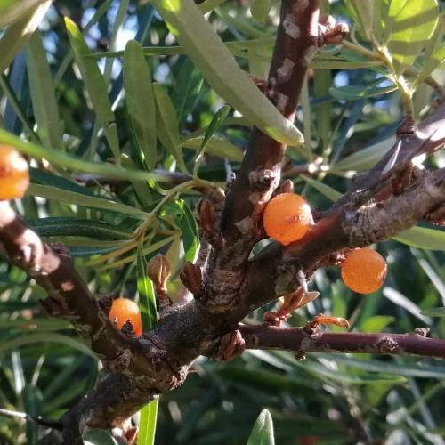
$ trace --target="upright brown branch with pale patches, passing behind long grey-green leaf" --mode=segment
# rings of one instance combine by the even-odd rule
[[[344,32],[337,28],[333,31],[332,20],[328,25],[324,20],[320,26],[319,16],[317,0],[281,2],[271,69],[262,85],[264,94],[291,122],[309,63],[324,44],[322,36]],[[331,37],[329,34],[328,41]],[[229,311],[239,305],[247,259],[255,243],[265,237],[263,209],[279,186],[286,148],[258,128],[253,129],[239,173],[227,193],[219,226],[222,238],[209,239],[214,246],[203,271],[206,292],[202,299],[209,311]]]

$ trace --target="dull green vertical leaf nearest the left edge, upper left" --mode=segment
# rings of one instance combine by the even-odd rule
[[[62,148],[61,117],[54,93],[51,69],[38,30],[29,40],[27,66],[37,133],[46,147]]]

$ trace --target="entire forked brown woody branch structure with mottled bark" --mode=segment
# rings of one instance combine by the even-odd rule
[[[336,28],[332,23],[328,26],[326,18],[318,27],[316,0],[283,0],[280,16],[264,93],[292,120],[309,62],[320,44],[336,41]],[[337,31],[344,35],[343,28]],[[397,187],[397,194],[390,193],[382,202],[373,197],[382,189],[381,182],[398,185],[413,158],[441,148],[444,120],[442,105],[419,125],[416,134],[401,134],[382,161],[357,178],[303,239],[287,247],[272,243],[249,260],[252,247],[264,237],[263,207],[279,185],[286,150],[254,128],[227,198],[205,192],[208,202],[199,206],[204,228],[197,262],[201,273],[187,265],[180,302],[167,308],[158,326],[139,339],[114,328],[107,317],[109,305],[93,298],[61,247],[44,244],[8,203],[0,203],[1,251],[44,287],[48,314],[71,321],[104,367],[100,384],[61,417],[64,429],[49,432],[41,443],[80,444],[81,434],[92,427],[109,429],[124,443],[125,433],[130,432],[129,417],[159,393],[182,384],[190,364],[200,355],[231,360],[247,346],[445,358],[445,341],[417,335],[317,333],[307,328],[239,325],[250,312],[294,292],[300,286],[296,277],[300,281],[304,275],[309,278],[320,264],[328,264],[327,258],[335,258],[332,254],[337,251],[392,237],[443,203],[443,171],[409,175],[406,186]]]

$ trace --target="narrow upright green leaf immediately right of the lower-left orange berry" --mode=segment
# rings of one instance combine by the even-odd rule
[[[142,252],[142,246],[138,246],[137,252],[137,288],[139,294],[139,305],[142,313],[142,328],[144,331],[151,330],[157,324],[156,297],[152,281],[147,277],[147,262]]]

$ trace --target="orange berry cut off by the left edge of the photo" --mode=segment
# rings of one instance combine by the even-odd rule
[[[11,145],[0,144],[0,200],[22,198],[28,186],[28,162]]]

